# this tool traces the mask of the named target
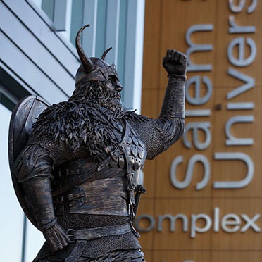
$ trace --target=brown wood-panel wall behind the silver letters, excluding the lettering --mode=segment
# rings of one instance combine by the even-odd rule
[[[261,175],[261,127],[262,127],[262,31],[260,1],[243,1],[244,9],[239,13],[230,10],[230,2],[237,6],[240,1],[216,0],[146,0],[144,30],[144,70],[142,91],[142,113],[156,118],[161,110],[161,103],[167,85],[166,72],[161,60],[166,49],[188,51],[189,45],[185,35],[193,25],[212,25],[213,29],[206,32],[194,32],[191,36],[195,44],[211,44],[211,51],[196,52],[190,60],[197,64],[209,64],[209,71],[188,72],[187,80],[194,76],[208,77],[211,80],[212,95],[206,103],[192,105],[186,102],[187,110],[208,109],[210,116],[186,118],[186,124],[209,123],[211,143],[207,148],[199,150],[195,146],[192,130],[187,133],[191,148],[185,146],[180,139],[172,148],[158,156],[154,161],[147,161],[144,168],[144,184],[147,194],[142,197],[138,217],[149,215],[154,218],[155,225],[149,232],[141,232],[140,242],[146,254],[146,261],[155,262],[244,262],[262,261],[262,175]],[[257,4],[255,10],[247,12]],[[240,8],[240,7],[239,7]],[[229,32],[229,19],[235,20],[239,26],[255,28],[255,32]],[[228,46],[234,39],[244,37],[244,57],[251,55],[247,38],[256,46],[256,58],[249,65],[236,66],[228,59]],[[239,58],[239,48],[232,51],[232,56]],[[231,69],[230,69],[231,68]],[[228,94],[244,84],[244,80],[230,75],[235,70],[239,75],[251,77],[254,86],[247,88],[237,96],[230,98]],[[203,78],[201,78],[203,79]],[[247,87],[244,86],[244,87]],[[194,96],[194,87],[189,87],[189,94]],[[201,96],[206,94],[206,87],[201,85]],[[252,103],[253,108],[229,110],[229,103]],[[231,135],[237,138],[253,139],[249,145],[227,145],[225,128],[230,119],[253,119],[248,123],[236,123],[230,128]],[[196,134],[199,142],[204,142],[204,132]],[[239,160],[218,160],[217,153],[227,156],[244,154],[254,166],[253,177],[248,185],[239,189],[216,189],[214,182],[244,180],[247,175],[247,164]],[[204,188],[197,190],[196,183],[204,177],[204,167],[196,163],[192,180],[185,189],[177,189],[170,182],[172,161],[182,156],[183,162],[177,168],[177,179],[185,180],[189,160],[196,155],[204,156],[210,165],[210,177]],[[218,211],[219,214],[215,211]],[[215,213],[214,213],[215,212]],[[157,229],[158,216],[185,214],[189,225],[187,232],[182,230],[182,220],[175,223],[174,232],[170,231],[168,220],[163,222],[162,232]],[[211,228],[206,232],[196,232],[190,237],[192,216],[206,214],[211,218]],[[223,218],[227,214],[228,219]],[[214,223],[215,216],[219,223]],[[225,220],[223,230],[221,220]],[[254,223],[251,222],[253,220]],[[230,221],[233,225],[229,225]],[[247,222],[249,221],[249,222]],[[206,221],[197,220],[197,227],[204,228]],[[248,225],[249,224],[249,225]],[[251,225],[250,225],[251,224]],[[148,229],[150,221],[139,220],[139,227]],[[232,232],[226,232],[229,230]],[[241,232],[241,230],[243,232]],[[201,230],[199,230],[201,231]]]

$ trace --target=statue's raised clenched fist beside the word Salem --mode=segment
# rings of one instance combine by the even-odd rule
[[[168,50],[163,57],[163,67],[168,75],[185,75],[187,71],[187,56],[180,51]]]

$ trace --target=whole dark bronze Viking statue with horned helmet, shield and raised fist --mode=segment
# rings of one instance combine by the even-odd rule
[[[125,112],[114,64],[82,62],[68,101],[47,106],[37,96],[11,118],[10,164],[21,206],[46,242],[35,261],[144,261],[132,223],[139,171],[180,138],[185,127],[187,58],[168,50],[168,87],[160,116]]]

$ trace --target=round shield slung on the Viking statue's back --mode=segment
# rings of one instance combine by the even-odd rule
[[[48,106],[49,105],[46,101],[39,96],[27,96],[20,100],[15,106],[9,125],[8,156],[13,187],[25,215],[31,223],[35,225],[35,227],[37,227],[37,222],[35,220],[35,216],[32,214],[32,211],[30,211],[30,208],[27,206],[25,194],[23,194],[23,187],[20,183],[18,183],[16,178],[14,163],[20,152],[27,145],[28,139],[32,133],[32,127],[36,122],[37,117]]]

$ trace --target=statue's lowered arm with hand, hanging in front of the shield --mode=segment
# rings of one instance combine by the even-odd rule
[[[39,144],[27,146],[15,161],[15,173],[22,184],[27,204],[35,216],[37,227],[53,251],[69,242],[63,228],[56,222],[51,194],[52,160],[49,151]]]

